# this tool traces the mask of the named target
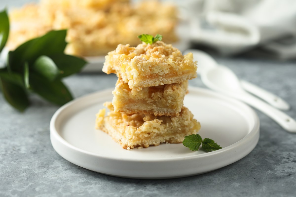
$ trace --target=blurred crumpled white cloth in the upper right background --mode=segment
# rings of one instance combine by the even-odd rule
[[[231,55],[258,47],[280,59],[296,58],[295,0],[193,0],[191,39]]]

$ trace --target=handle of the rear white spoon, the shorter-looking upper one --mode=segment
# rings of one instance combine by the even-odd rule
[[[260,97],[261,99],[265,100],[269,104],[273,105],[274,107],[281,109],[281,110],[289,110],[290,105],[281,99],[280,97],[254,85],[247,81],[240,80],[242,87],[247,90],[248,92]]]

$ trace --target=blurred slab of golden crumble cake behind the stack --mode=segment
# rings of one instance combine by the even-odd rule
[[[165,42],[173,43],[177,40],[176,16],[174,5],[159,1],[41,0],[10,12],[7,47],[13,50],[60,29],[68,29],[66,53],[77,56],[106,55],[119,43],[136,46],[140,43],[136,36],[144,32],[162,34]]]

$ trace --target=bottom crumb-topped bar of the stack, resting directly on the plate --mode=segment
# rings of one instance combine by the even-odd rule
[[[157,117],[151,114],[128,115],[115,112],[111,102],[104,105],[110,112],[105,116],[105,109],[99,111],[96,115],[96,128],[108,133],[124,149],[147,148],[163,142],[181,143],[185,136],[200,130],[200,123],[186,107],[182,107],[178,116]]]

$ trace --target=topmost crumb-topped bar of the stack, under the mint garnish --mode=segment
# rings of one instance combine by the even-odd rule
[[[118,45],[105,57],[103,72],[115,73],[128,83],[130,89],[181,83],[193,79],[196,62],[192,53],[182,53],[170,44],[157,41],[142,43],[136,47]]]

